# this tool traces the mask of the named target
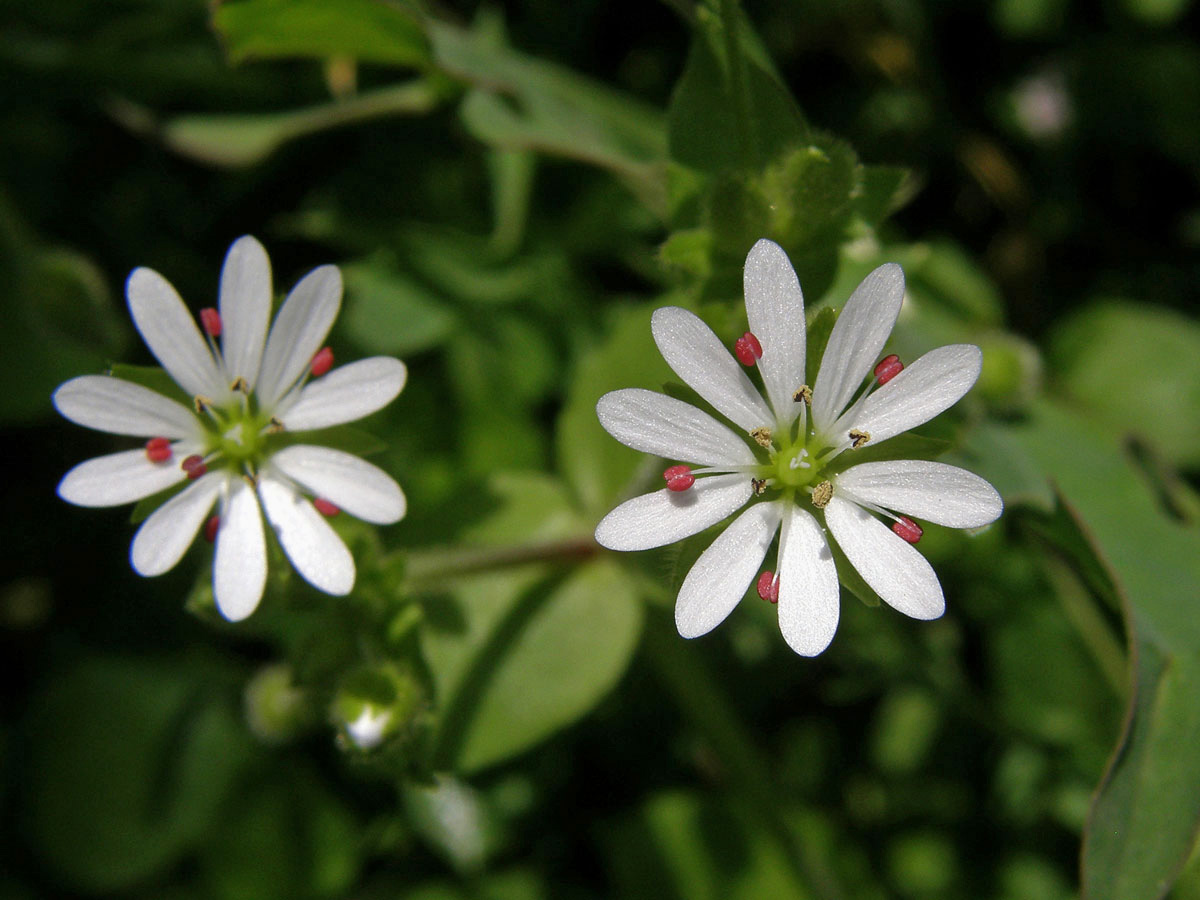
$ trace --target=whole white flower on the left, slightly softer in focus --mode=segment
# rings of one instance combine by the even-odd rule
[[[310,584],[329,594],[348,593],[354,559],[323,514],[341,509],[389,524],[404,515],[404,494],[379,468],[341,450],[300,443],[295,432],[383,408],[403,388],[407,372],[386,356],[329,371],[332,353],[322,343],[342,302],[341,272],[323,265],[301,278],[270,334],[270,260],[250,236],[229,247],[220,308],[200,312],[205,334],[156,271],[136,269],[126,294],[150,352],[193,404],[110,376],[83,376],[61,385],[54,406],[71,421],[149,440],[76,466],[59,484],[59,496],[80,506],[114,506],[190,480],[142,523],[130,557],[138,574],[161,575],[205,527],[216,544],[214,596],[229,620],[250,616],[263,595],[262,511]],[[214,505],[218,512],[210,517]]]

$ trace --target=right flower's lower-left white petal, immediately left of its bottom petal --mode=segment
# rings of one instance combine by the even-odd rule
[[[707,635],[733,612],[758,574],[779,516],[780,504],[756,503],[700,554],[676,600],[676,628],[683,637]]]

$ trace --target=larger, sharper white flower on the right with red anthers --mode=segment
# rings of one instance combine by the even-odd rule
[[[838,572],[827,529],[887,604],[918,619],[944,611],[937,576],[912,546],[920,528],[910,516],[974,528],[1000,516],[1003,503],[982,478],[944,463],[852,464],[858,448],[932,419],[979,377],[982,354],[973,344],[941,347],[907,368],[895,356],[878,361],[902,300],[900,266],[866,276],[842,308],[810,389],[799,282],[784,251],[758,241],[745,264],[750,331],[736,352],[744,365],[757,366],[766,398],[700,318],[678,307],[654,313],[654,340],[667,364],[740,433],[662,394],[606,394],[596,414],[610,434],[689,466],[672,466],[664,473],[666,488],[605,516],[596,540],[611,550],[660,547],[750,504],[679,589],[676,625],[684,637],[707,634],[732,612],[776,532],[776,571],[762,572],[758,593],[778,601],[784,638],[799,654],[821,653],[838,628]]]

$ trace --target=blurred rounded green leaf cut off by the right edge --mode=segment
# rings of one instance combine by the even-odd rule
[[[1116,434],[1138,434],[1177,466],[1200,467],[1200,325],[1148,304],[1108,300],[1060,325],[1050,364]]]

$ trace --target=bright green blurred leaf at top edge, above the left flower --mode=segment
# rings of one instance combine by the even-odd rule
[[[234,0],[212,22],[235,62],[280,56],[349,56],[422,66],[428,42],[415,11],[380,0]]]

